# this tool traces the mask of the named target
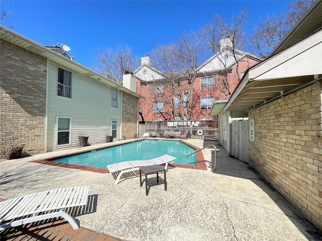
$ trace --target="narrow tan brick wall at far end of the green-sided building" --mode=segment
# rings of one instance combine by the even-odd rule
[[[138,100],[136,97],[123,92],[122,99],[122,134],[121,139],[134,138],[138,125]]]

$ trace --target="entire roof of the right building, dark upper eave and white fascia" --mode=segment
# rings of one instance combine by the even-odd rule
[[[322,1],[316,1],[269,57],[246,71],[222,110],[245,113],[320,80],[321,11]]]

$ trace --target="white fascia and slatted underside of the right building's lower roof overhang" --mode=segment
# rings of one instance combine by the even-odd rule
[[[224,111],[249,111],[322,75],[322,30],[250,68]],[[320,76],[319,76],[320,77]]]

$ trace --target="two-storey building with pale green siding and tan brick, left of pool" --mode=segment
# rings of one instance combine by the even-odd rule
[[[1,137],[25,155],[122,139],[138,133],[134,84],[126,88],[86,68],[59,47],[45,47],[1,27]],[[134,86],[134,90],[133,87]],[[132,90],[131,90],[132,89]]]

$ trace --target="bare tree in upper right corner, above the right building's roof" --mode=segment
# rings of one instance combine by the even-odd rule
[[[294,1],[288,6],[290,10],[286,15],[281,12],[279,16],[272,14],[261,20],[250,37],[254,51],[263,58],[269,55],[314,2],[315,0]]]

